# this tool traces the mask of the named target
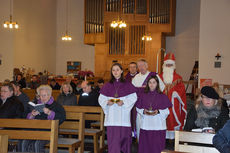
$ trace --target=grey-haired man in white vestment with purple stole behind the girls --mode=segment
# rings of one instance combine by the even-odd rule
[[[151,76],[157,75],[157,73],[148,71],[148,63],[144,59],[141,59],[137,62],[137,67],[139,73],[133,78],[132,84],[137,88],[144,88],[147,85],[148,79]],[[161,90],[163,90],[164,85],[161,79],[159,79],[159,82],[160,82],[160,88]],[[136,121],[136,125],[135,125],[135,121]],[[140,122],[141,122],[140,115],[136,113],[135,109],[132,110],[132,127],[133,130],[136,127],[136,133],[138,139],[139,139],[139,131],[140,131]]]

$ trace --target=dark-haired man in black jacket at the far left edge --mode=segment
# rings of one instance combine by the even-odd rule
[[[0,118],[21,118],[23,104],[14,96],[14,88],[11,84],[3,84],[1,87]]]

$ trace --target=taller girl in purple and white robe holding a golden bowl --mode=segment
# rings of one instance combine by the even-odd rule
[[[111,80],[100,90],[99,104],[105,113],[109,153],[131,153],[130,112],[137,100],[136,89],[123,77],[119,63],[111,68]]]

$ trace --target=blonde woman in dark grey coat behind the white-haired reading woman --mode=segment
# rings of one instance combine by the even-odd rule
[[[77,97],[73,93],[73,88],[67,82],[64,82],[60,89],[61,93],[57,98],[57,102],[61,105],[74,106],[77,105]]]

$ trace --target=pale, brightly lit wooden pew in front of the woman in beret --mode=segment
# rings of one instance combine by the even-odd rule
[[[212,145],[215,134],[175,131],[175,151],[192,153],[218,153]]]

